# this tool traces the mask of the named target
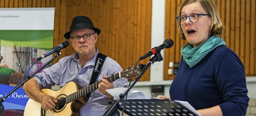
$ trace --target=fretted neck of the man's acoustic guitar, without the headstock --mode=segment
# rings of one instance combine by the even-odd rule
[[[113,82],[113,81],[115,81],[119,78],[121,78],[121,72],[119,72],[117,74],[114,74],[114,75],[111,75],[110,77],[106,78],[106,80],[108,80],[108,82]],[[94,90],[98,89],[98,85],[100,84],[100,82],[102,82],[102,80],[66,96],[66,103],[72,102],[73,100],[76,100],[76,99],[78,99],[78,98],[80,98],[80,97],[82,97],[86,94],[89,94],[89,93],[93,92]]]

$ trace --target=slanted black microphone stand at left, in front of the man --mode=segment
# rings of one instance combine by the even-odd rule
[[[40,70],[42,70],[45,66],[47,66],[50,62],[52,62],[52,60],[54,60],[55,58],[57,58],[58,56],[60,56],[61,52],[58,52],[51,60],[49,60],[48,62],[46,62],[42,67],[38,68],[36,70],[36,72],[34,72],[31,76],[28,76],[28,78],[26,80],[24,80],[21,84],[19,84],[18,86],[16,86],[11,92],[9,92],[6,96],[2,97],[0,99],[0,116],[2,116],[3,112],[4,112],[4,105],[2,104],[6,98],[8,96],[10,96],[14,91],[16,91],[18,88],[20,88],[20,86],[22,86],[24,83],[26,83],[28,80],[30,80],[31,77],[33,77],[34,75],[36,75]]]

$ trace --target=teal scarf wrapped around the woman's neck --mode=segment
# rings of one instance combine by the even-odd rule
[[[192,44],[186,44],[182,47],[181,54],[184,61],[189,65],[190,68],[192,68],[198,62],[200,62],[204,56],[220,45],[226,45],[223,39],[218,36],[211,36],[202,45],[196,48],[193,48]]]

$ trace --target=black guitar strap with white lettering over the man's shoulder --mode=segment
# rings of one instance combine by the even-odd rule
[[[93,72],[92,72],[92,76],[91,76],[91,80],[90,80],[90,83],[89,85],[91,84],[94,84],[101,72],[101,68],[105,62],[105,59],[107,58],[108,56],[104,55],[104,54],[101,54],[101,53],[98,53],[97,55],[97,58],[95,60],[95,64],[94,64],[94,69],[93,69]],[[91,93],[88,93],[85,95],[84,97],[84,101],[85,102],[88,102],[89,98],[91,96]]]

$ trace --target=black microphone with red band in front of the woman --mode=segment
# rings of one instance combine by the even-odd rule
[[[143,56],[141,56],[139,58],[139,60],[142,60],[142,59],[145,59],[147,58],[148,56],[151,56],[153,54],[156,54],[156,51],[157,50],[162,50],[164,48],[171,48],[173,46],[173,40],[171,39],[167,39],[164,41],[164,43],[158,47],[155,47],[155,48],[152,48],[148,53],[144,54]]]

